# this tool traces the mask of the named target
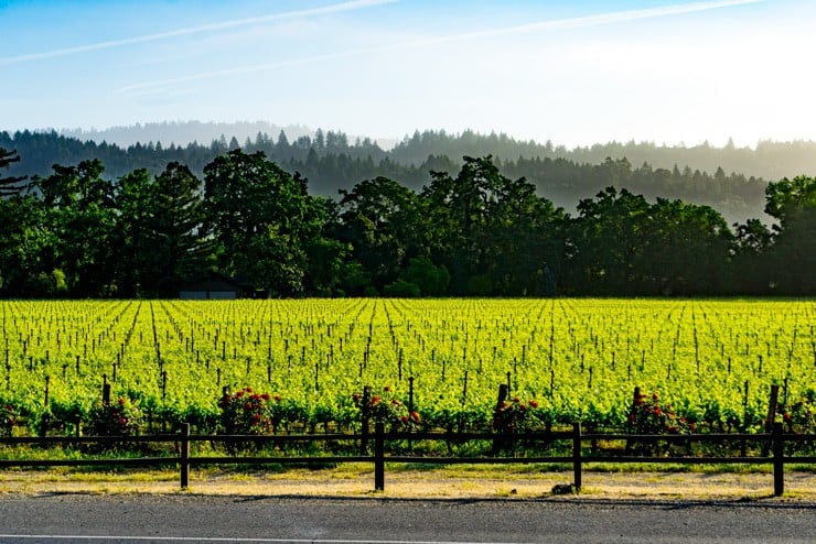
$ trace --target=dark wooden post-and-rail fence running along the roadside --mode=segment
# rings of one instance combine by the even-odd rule
[[[361,455],[347,456],[233,456],[233,457],[204,457],[191,455],[191,444],[203,442],[217,444],[277,444],[288,443],[320,443],[330,440],[354,440],[361,444]],[[386,443],[404,440],[417,443],[429,442],[466,442],[490,440],[507,443],[508,440],[539,440],[544,443],[571,442],[570,455],[551,455],[536,457],[459,457],[459,456],[406,456],[386,455]],[[640,456],[640,455],[598,455],[584,453],[584,443],[597,444],[602,440],[626,440],[636,444],[718,444],[718,443],[742,443],[743,454],[740,456],[699,457],[699,456]],[[368,453],[368,443],[373,442],[373,453]],[[760,456],[744,455],[744,444],[762,443],[763,454]],[[683,465],[726,465],[726,464],[752,464],[773,466],[773,493],[780,497],[785,491],[784,467],[790,464],[813,465],[816,456],[788,456],[785,447],[797,443],[816,442],[816,434],[790,434],[784,433],[782,424],[774,424],[771,433],[764,434],[691,434],[691,435],[632,435],[609,433],[583,433],[580,424],[575,424],[572,431],[551,431],[515,434],[513,436],[498,435],[496,433],[386,433],[382,423],[375,425],[373,434],[304,434],[304,435],[191,435],[190,424],[183,424],[179,434],[163,434],[138,437],[0,437],[0,445],[36,445],[53,446],[64,444],[144,444],[144,443],[174,443],[175,454],[168,457],[138,457],[138,458],[94,458],[94,459],[0,459],[0,468],[3,467],[57,467],[57,466],[168,466],[176,465],[180,472],[182,489],[190,485],[190,468],[204,465],[264,465],[264,464],[340,464],[340,463],[373,463],[374,464],[374,489],[385,490],[386,463],[425,465],[453,465],[453,464],[566,464],[572,466],[572,486],[580,491],[583,466],[591,463],[604,464],[683,464]],[[568,448],[569,449],[569,448]],[[594,448],[591,448],[594,449]],[[813,451],[813,449],[810,449]]]

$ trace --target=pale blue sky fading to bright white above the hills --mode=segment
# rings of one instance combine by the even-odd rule
[[[0,130],[816,140],[813,0],[0,0]]]

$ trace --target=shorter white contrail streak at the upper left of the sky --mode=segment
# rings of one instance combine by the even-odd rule
[[[64,47],[52,51],[44,51],[40,53],[30,53],[26,55],[7,56],[0,57],[0,66],[9,64],[25,63],[31,61],[42,61],[46,58],[54,58],[61,56],[76,55],[79,53],[88,53],[92,51],[110,50],[114,47],[124,47],[127,45],[136,45],[148,42],[158,42],[162,40],[169,40],[172,37],[187,36],[191,34],[204,34],[211,32],[218,32],[223,30],[236,29],[240,26],[249,26],[254,24],[264,24],[278,21],[286,21],[291,19],[303,19],[309,17],[331,15],[335,13],[342,13],[345,11],[361,10],[375,6],[382,6],[386,3],[393,3],[397,0],[351,0],[347,2],[334,3],[324,6],[321,8],[310,8],[305,10],[287,11],[283,13],[272,13],[269,15],[253,17],[247,19],[234,19],[232,21],[222,21],[218,23],[202,24],[198,26],[190,26],[185,29],[176,29],[168,32],[159,32],[155,34],[146,34],[142,36],[125,37],[121,40],[110,40],[107,42],[97,42],[86,45],[77,45],[75,47]]]

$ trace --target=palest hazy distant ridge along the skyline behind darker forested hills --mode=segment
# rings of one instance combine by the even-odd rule
[[[289,141],[303,137],[314,139],[321,129],[311,129],[302,124],[280,126],[268,121],[239,122],[202,122],[202,121],[164,121],[137,123],[129,127],[110,127],[106,129],[60,129],[58,134],[75,138],[79,141],[93,141],[97,144],[106,142],[120,148],[129,148],[137,143],[161,143],[163,148],[171,144],[186,146],[197,143],[210,146],[217,140],[227,142],[235,139],[239,145],[247,140],[255,142],[258,134],[277,140],[281,131]],[[348,140],[348,138],[346,138]],[[359,139],[364,139],[361,137]],[[697,145],[664,145],[653,142],[606,142],[589,146],[568,149],[554,144],[550,141],[535,142],[533,140],[517,140],[505,133],[480,134],[465,130],[461,133],[448,133],[444,130],[416,131],[401,140],[391,138],[365,138],[377,143],[382,150],[388,151],[390,157],[400,164],[419,165],[429,155],[448,155],[451,159],[464,154],[492,154],[502,160],[550,157],[567,159],[578,163],[598,164],[606,157],[627,159],[630,163],[640,166],[648,163],[657,168],[689,166],[713,174],[717,168],[724,172],[740,173],[747,176],[762,177],[767,181],[777,181],[783,177],[794,177],[799,174],[816,174],[816,142],[796,140],[792,142],[775,142],[763,140],[754,148],[737,148],[732,142],[718,148],[707,142]],[[355,138],[356,140],[356,138]],[[352,144],[353,145],[353,144]],[[378,159],[375,156],[374,159]]]

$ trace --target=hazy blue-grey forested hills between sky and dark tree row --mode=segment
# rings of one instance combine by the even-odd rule
[[[159,138],[161,128],[167,139]],[[232,126],[206,126],[208,130]],[[245,134],[266,124],[245,123]],[[277,128],[268,126],[269,128]],[[201,127],[198,127],[201,128]],[[137,168],[158,174],[169,162],[178,161],[201,175],[205,164],[224,152],[243,148],[246,152],[264,151],[269,159],[290,172],[309,179],[310,191],[336,197],[363,179],[376,176],[393,178],[412,189],[429,183],[429,172],[455,172],[462,157],[491,154],[503,174],[526,177],[538,193],[567,210],[594,196],[608,186],[627,188],[647,198],[679,198],[705,204],[719,210],[729,222],[744,222],[763,217],[764,189],[770,181],[816,172],[816,142],[761,142],[755,150],[747,148],[658,146],[651,143],[608,143],[568,150],[547,142],[515,140],[505,134],[477,134],[465,131],[417,132],[393,149],[384,150],[371,139],[350,138],[342,132],[303,128],[284,128],[278,134],[258,130],[243,141],[222,135],[208,143],[169,143],[190,138],[196,132],[191,123],[167,123],[141,128],[155,141],[119,145],[107,141],[80,140],[52,132],[0,132],[0,148],[17,150],[21,161],[10,168],[11,175],[51,174],[54,164],[75,165],[98,159],[105,175],[119,178]],[[299,132],[300,135],[297,135]],[[105,134],[126,138],[121,132],[80,132],[83,138]],[[291,133],[290,138],[288,134]]]

